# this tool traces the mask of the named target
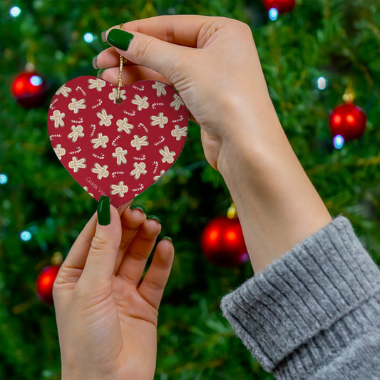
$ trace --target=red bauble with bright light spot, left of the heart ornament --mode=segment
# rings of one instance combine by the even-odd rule
[[[36,71],[19,73],[12,83],[12,95],[24,108],[41,106],[46,100],[46,83]]]

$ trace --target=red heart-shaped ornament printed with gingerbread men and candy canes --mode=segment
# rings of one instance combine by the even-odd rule
[[[65,83],[48,111],[54,152],[96,200],[115,207],[155,183],[180,155],[188,113],[173,88],[139,81],[120,88],[94,76]]]

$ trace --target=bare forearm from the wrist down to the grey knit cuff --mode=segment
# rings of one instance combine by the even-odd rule
[[[233,118],[245,133],[222,143],[218,170],[237,215],[255,272],[331,222],[269,102],[258,116]],[[231,121],[232,123],[232,121]]]

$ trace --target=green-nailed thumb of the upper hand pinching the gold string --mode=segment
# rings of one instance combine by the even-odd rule
[[[120,29],[111,29],[106,39],[128,61],[151,68],[173,84],[180,80],[178,73],[184,68],[183,63],[191,62],[189,54],[192,49],[137,31],[129,33]]]

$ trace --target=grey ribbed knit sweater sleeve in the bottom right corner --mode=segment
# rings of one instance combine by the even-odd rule
[[[277,379],[380,379],[380,272],[337,217],[222,299]]]

